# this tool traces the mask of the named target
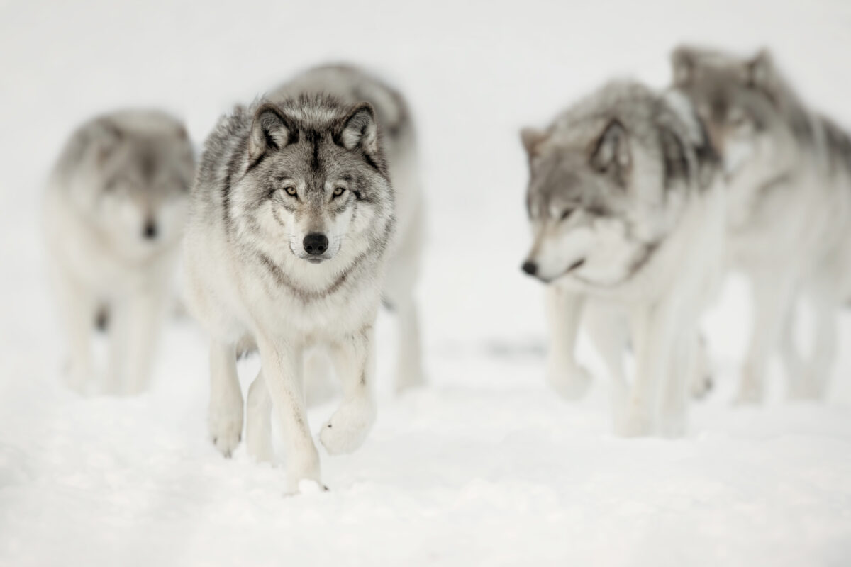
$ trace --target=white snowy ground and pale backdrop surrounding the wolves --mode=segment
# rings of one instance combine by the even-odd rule
[[[607,77],[663,86],[684,40],[771,45],[851,126],[848,3],[685,4],[0,0],[0,564],[851,564],[851,315],[829,403],[787,404],[775,376],[768,405],[734,408],[749,305],[732,280],[706,323],[718,388],[682,440],[609,434],[604,377],[574,405],[543,383],[517,128]],[[389,394],[382,316],[373,434],[323,457],[331,491],[284,498],[281,468],[209,444],[190,321],[169,327],[151,394],[60,387],[36,211],[84,117],[163,105],[200,140],[233,102],[328,59],[383,71],[420,122],[431,384]],[[311,410],[314,429],[332,409]]]

